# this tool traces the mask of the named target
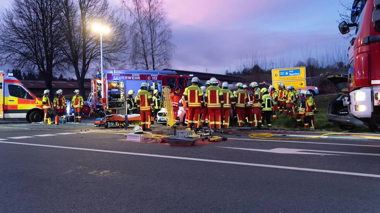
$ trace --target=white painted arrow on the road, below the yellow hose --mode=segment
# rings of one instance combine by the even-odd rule
[[[288,149],[288,148],[275,148],[275,149],[246,149],[246,148],[235,148],[235,147],[221,147],[220,148],[229,148],[229,149],[243,149],[251,150],[258,152],[272,152],[272,153],[282,153],[282,154],[305,154],[305,155],[321,155],[321,153],[312,153],[312,152],[322,152],[322,153],[339,153],[339,154],[351,154],[351,155],[374,155],[380,156],[380,154],[373,153],[361,153],[361,152],[334,152],[334,151],[322,151],[322,150],[309,150],[309,149]],[[306,152],[302,152],[306,151]],[[334,154],[324,154],[324,155],[334,155]]]

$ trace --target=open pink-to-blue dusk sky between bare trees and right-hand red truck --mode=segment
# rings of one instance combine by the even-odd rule
[[[207,66],[224,74],[256,50],[288,56],[293,66],[303,60],[307,44],[314,55],[316,45],[319,53],[339,42],[348,45],[337,27],[339,0],[165,0],[165,9],[177,46],[173,69],[203,72]]]

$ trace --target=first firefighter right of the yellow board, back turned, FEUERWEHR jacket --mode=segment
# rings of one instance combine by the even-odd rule
[[[184,92],[184,107],[188,108],[188,123],[187,127],[192,126],[198,130],[199,128],[199,116],[201,114],[201,108],[204,108],[203,92],[198,87],[199,78],[194,77],[191,80],[192,85],[188,86]],[[193,125],[194,124],[194,125]]]

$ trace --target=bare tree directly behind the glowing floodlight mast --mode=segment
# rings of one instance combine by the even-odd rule
[[[111,31],[103,37],[103,60],[109,66],[123,65],[128,50],[125,25],[116,16],[108,0],[62,0],[61,25],[65,40],[60,46],[68,58],[82,96],[84,79],[91,65],[100,63],[100,36],[91,25],[99,22]]]

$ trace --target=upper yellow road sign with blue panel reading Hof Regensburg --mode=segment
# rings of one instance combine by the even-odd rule
[[[306,79],[305,67],[272,69],[272,81],[292,81]]]

